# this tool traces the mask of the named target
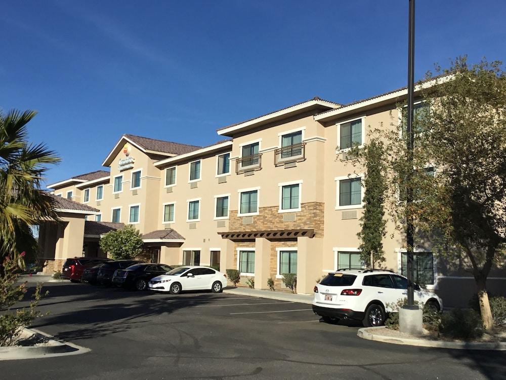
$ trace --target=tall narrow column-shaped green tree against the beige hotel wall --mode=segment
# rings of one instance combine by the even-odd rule
[[[385,261],[383,238],[386,236],[385,195],[387,191],[385,143],[378,137],[371,137],[363,148],[351,149],[353,164],[365,168],[362,179],[364,190],[364,212],[360,218],[360,258],[368,266]]]

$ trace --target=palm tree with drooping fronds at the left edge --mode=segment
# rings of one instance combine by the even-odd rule
[[[28,142],[27,123],[35,115],[30,110],[0,111],[0,265],[23,251],[36,255],[30,226],[44,219],[58,220],[54,200],[41,191],[40,184],[47,165],[59,163],[60,158],[45,144]]]

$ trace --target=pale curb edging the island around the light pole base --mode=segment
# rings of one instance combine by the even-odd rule
[[[381,335],[381,331],[384,329],[386,329],[385,326],[364,327],[357,331],[357,335],[362,339],[381,341],[383,343],[392,343],[394,345],[446,348],[454,350],[506,351],[506,342],[460,342],[415,338],[396,338],[393,336]],[[374,331],[377,331],[377,333]]]

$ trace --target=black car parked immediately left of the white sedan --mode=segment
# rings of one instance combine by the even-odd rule
[[[146,290],[149,280],[172,271],[172,269],[172,267],[165,264],[136,264],[127,269],[118,269],[114,272],[112,283],[124,288]]]

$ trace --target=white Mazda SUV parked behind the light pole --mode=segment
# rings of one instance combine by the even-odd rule
[[[314,288],[313,312],[326,322],[361,320],[364,326],[382,326],[391,306],[407,297],[407,278],[386,270],[330,272]],[[414,300],[438,311],[443,302],[435,293],[414,286]]]

